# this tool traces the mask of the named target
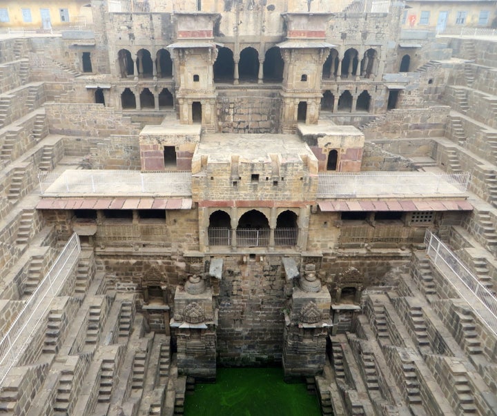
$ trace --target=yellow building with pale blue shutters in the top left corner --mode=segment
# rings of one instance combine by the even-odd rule
[[[89,0],[7,0],[0,3],[0,28],[51,29],[91,21]]]

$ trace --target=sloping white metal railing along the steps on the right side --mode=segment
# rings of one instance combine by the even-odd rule
[[[473,273],[458,259],[454,252],[440,241],[430,230],[425,234],[427,255],[440,273],[457,290],[460,297],[467,301],[487,324],[489,330],[497,335],[497,298],[483,284],[478,281]]]

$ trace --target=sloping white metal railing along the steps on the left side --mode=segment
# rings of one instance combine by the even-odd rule
[[[10,368],[26,350],[30,337],[37,330],[39,321],[45,317],[51,300],[58,295],[59,290],[74,270],[80,252],[79,237],[74,233],[48,270],[47,275],[26,302],[21,313],[17,315],[7,333],[3,335],[0,341],[0,386]]]

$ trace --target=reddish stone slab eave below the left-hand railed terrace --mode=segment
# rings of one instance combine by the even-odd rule
[[[39,210],[189,210],[189,198],[43,198]]]

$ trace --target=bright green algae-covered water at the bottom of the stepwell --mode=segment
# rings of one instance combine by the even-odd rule
[[[196,384],[185,416],[320,416],[305,384],[286,384],[282,368],[218,368],[215,384]]]

